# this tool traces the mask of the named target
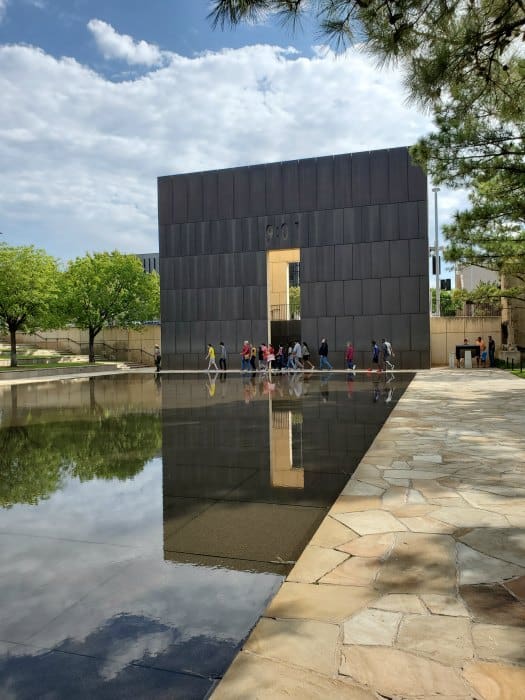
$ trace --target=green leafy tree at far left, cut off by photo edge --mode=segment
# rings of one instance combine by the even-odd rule
[[[0,323],[9,331],[11,367],[17,366],[16,333],[57,325],[57,261],[33,246],[0,244]]]

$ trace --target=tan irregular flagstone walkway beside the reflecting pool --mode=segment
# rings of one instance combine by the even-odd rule
[[[525,698],[524,397],[418,373],[213,700]]]

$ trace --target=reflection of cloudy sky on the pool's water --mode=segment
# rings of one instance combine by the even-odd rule
[[[71,479],[37,507],[0,510],[3,699],[162,697],[164,685],[204,697],[225,672],[281,578],[165,562],[161,478],[155,458],[133,479]],[[68,695],[71,653],[90,662]]]

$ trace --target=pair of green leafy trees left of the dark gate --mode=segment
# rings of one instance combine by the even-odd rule
[[[109,326],[129,328],[159,318],[160,283],[135,255],[87,253],[63,268],[45,250],[0,244],[0,330],[7,331],[11,367],[17,366],[16,334],[74,324],[95,337]]]

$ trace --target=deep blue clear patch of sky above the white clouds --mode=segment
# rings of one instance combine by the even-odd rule
[[[73,56],[113,80],[128,76],[129,65],[118,59],[110,63],[100,55],[87,30],[93,18],[111,25],[119,34],[188,57],[257,43],[293,44],[308,54],[318,40],[307,17],[302,31],[296,32],[277,22],[212,31],[207,20],[208,0],[0,0],[0,7],[2,4],[1,43],[31,44],[55,58]],[[136,67],[136,72],[143,71]]]

